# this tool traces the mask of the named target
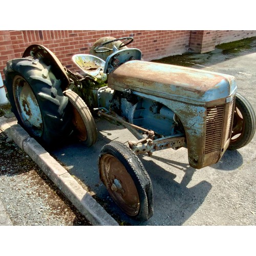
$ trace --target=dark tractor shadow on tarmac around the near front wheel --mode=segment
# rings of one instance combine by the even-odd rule
[[[120,127],[120,129],[123,128]],[[90,148],[76,143],[67,145],[53,154],[66,165],[71,175],[83,183],[85,188],[90,191],[90,194],[120,225],[182,225],[204,202],[211,189],[210,183],[201,181],[194,187],[186,187],[196,169],[191,168],[188,164],[161,159],[168,165],[175,166],[184,172],[182,181],[178,183],[174,180],[176,175],[172,172],[167,172],[156,164],[154,157],[144,158],[141,156],[140,159],[153,184],[154,215],[145,222],[136,221],[126,216],[113,202],[108,191],[99,180],[98,154],[100,148],[110,141],[108,134],[103,132],[99,134],[98,142]],[[161,220],[160,223],[159,220]]]

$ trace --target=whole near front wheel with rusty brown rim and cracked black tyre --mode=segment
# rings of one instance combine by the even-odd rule
[[[153,215],[153,189],[138,156],[122,143],[112,141],[102,147],[99,155],[100,179],[114,202],[138,220]]]

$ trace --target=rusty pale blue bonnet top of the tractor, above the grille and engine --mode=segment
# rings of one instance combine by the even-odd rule
[[[205,105],[237,90],[231,75],[141,60],[123,63],[109,74],[111,89]]]

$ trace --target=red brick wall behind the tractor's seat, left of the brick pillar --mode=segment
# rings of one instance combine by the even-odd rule
[[[19,58],[31,44],[40,44],[49,48],[59,58],[63,66],[77,69],[71,57],[77,53],[89,53],[94,42],[103,36],[124,37],[133,36],[134,41],[129,47],[139,48],[144,60],[157,59],[187,51],[190,31],[173,30],[25,30],[0,31],[0,71],[6,61]],[[5,52],[8,48],[8,52]]]

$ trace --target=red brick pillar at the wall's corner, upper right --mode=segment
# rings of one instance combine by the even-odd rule
[[[195,53],[206,53],[215,49],[216,30],[191,30],[189,50]]]

